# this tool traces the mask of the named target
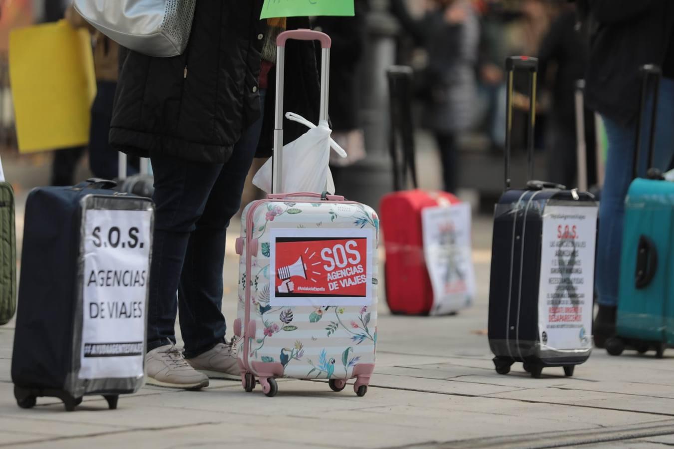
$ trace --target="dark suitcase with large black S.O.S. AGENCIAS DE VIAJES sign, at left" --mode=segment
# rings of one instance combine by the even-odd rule
[[[22,408],[55,396],[72,411],[144,381],[154,206],[115,182],[35,188],[26,202],[11,361]]]

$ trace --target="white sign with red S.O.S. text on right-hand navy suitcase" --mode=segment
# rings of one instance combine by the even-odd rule
[[[539,283],[539,338],[544,349],[592,346],[597,211],[545,207]]]

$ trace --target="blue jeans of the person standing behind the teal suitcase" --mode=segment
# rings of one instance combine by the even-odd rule
[[[639,174],[644,176],[648,165],[648,133],[652,106],[647,105],[642,125],[642,153]],[[620,276],[620,252],[623,238],[625,197],[633,178],[634,140],[636,124],[623,127],[615,121],[602,117],[609,138],[606,176],[599,205],[599,240],[596,248],[597,302],[603,306],[615,306],[618,301]],[[667,170],[674,154],[674,79],[663,79],[658,98],[658,113],[655,129],[653,164]],[[633,275],[633,273],[629,273]]]

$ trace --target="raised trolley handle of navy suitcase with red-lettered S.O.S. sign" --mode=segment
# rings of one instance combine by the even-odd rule
[[[529,73],[529,120],[527,136],[528,180],[534,175],[534,126],[536,125],[536,78],[539,69],[539,60],[526,56],[512,56],[505,59],[505,71],[508,73],[506,90],[506,118],[505,118],[505,188],[510,188],[510,152],[512,151],[512,96],[513,80],[516,70],[526,70]]]

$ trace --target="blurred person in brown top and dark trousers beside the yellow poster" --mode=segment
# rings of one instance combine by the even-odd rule
[[[119,45],[100,31],[90,26],[70,5],[65,11],[65,19],[74,28],[86,28],[92,33],[94,46],[94,67],[96,69],[96,98],[91,106],[89,132],[89,168],[96,178],[115,179],[119,173],[117,151],[108,143],[110,121],[113,117],[113,100],[117,88],[119,65]],[[130,161],[129,161],[130,162]],[[137,160],[129,163],[127,175],[138,172]]]

